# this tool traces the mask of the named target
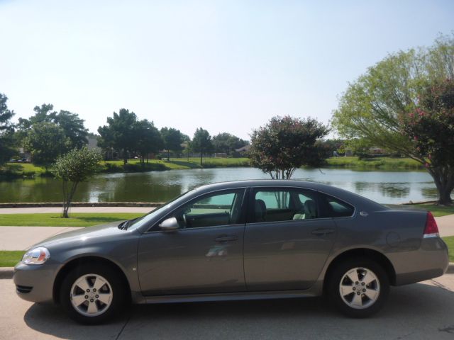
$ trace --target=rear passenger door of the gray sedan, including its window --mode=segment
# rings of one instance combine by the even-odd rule
[[[319,277],[336,238],[321,218],[319,194],[297,188],[253,188],[245,227],[248,290],[300,290]]]

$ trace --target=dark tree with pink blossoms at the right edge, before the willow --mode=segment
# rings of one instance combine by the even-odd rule
[[[427,86],[418,107],[402,116],[409,137],[438,189],[438,203],[453,203],[454,189],[454,79]]]

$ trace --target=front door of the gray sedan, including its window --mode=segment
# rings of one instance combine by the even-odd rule
[[[158,222],[140,237],[138,276],[144,295],[226,293],[245,290],[243,237],[245,188],[209,193],[185,203],[179,229]]]

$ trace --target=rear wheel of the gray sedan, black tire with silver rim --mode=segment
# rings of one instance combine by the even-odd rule
[[[343,314],[370,317],[387,299],[389,278],[382,266],[371,259],[348,259],[333,268],[326,288],[329,300]]]

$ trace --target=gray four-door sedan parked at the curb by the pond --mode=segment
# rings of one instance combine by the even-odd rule
[[[14,283],[24,300],[59,302],[89,324],[128,302],[322,294],[344,314],[367,317],[390,285],[446,268],[430,212],[319,183],[236,181],[196,188],[135,220],[46,239],[16,265]]]

